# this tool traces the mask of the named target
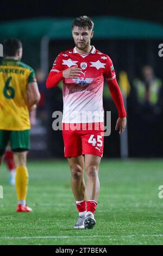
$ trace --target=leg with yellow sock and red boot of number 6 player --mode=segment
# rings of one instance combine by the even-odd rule
[[[16,165],[16,191],[17,191],[17,212],[30,212],[31,208],[26,205],[28,190],[27,151],[15,152],[14,161]]]

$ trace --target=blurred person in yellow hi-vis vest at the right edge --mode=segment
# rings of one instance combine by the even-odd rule
[[[131,156],[162,154],[162,82],[152,66],[142,68],[142,78],[135,78],[129,99],[129,134]]]

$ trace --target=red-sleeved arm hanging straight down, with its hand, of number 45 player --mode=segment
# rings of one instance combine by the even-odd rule
[[[115,105],[118,110],[118,119],[116,123],[115,130],[120,129],[119,134],[121,135],[126,127],[126,110],[124,108],[124,102],[122,93],[120,90],[120,87],[118,86],[117,80],[116,80],[116,74],[114,70],[114,66],[112,65],[111,59],[107,56],[106,59],[106,71],[104,74],[104,77],[106,78],[106,81],[108,83],[108,87],[111,93],[111,97],[113,101],[115,102]]]

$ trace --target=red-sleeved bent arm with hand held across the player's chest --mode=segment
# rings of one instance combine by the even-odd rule
[[[73,66],[71,68],[62,70],[62,57],[61,53],[55,59],[53,63],[53,68],[51,69],[47,80],[46,80],[46,87],[48,89],[57,86],[57,84],[63,78],[78,78],[80,76],[80,72],[82,69],[79,69],[77,66]]]

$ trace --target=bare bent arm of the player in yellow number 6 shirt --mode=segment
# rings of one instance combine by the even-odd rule
[[[36,82],[30,82],[27,84],[27,105],[28,109],[31,110],[32,107],[37,104],[40,100],[39,88]]]

